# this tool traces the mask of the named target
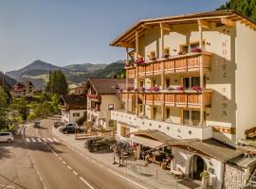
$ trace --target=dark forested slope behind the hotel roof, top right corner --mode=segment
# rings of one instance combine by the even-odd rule
[[[219,9],[234,9],[256,22],[256,0],[229,0]]]

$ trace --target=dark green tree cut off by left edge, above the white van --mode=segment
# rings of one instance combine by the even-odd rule
[[[8,107],[8,94],[5,92],[5,89],[0,86],[0,129],[3,129],[8,120]]]

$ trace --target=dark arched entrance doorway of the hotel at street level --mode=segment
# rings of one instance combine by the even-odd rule
[[[201,180],[200,174],[207,169],[207,164],[200,156],[194,155],[190,162],[190,178]]]

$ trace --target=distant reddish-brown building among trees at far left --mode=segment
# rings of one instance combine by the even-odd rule
[[[18,82],[16,83],[11,91],[10,94],[12,97],[31,97],[33,96],[34,86],[31,81],[25,82]]]

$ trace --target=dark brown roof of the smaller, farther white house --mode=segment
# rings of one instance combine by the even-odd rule
[[[70,108],[86,109],[86,98],[80,94],[62,94],[60,96]]]

